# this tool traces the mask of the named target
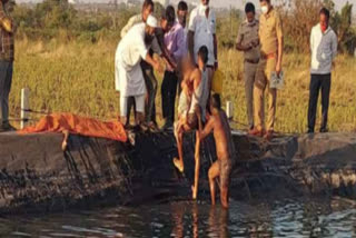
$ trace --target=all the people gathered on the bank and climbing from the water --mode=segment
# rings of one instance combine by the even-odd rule
[[[0,4],[0,131],[14,129],[9,123],[8,106],[13,69],[14,23],[6,11],[7,2],[8,0],[1,0]],[[284,30],[283,19],[270,0],[259,2],[259,20],[256,19],[255,6],[250,2],[246,4],[246,21],[239,27],[236,49],[243,51],[245,57],[248,133],[270,140],[275,132],[277,100],[277,88],[271,80],[283,76]],[[184,133],[196,131],[192,197],[197,198],[200,142],[212,132],[218,160],[209,169],[211,201],[215,204],[215,178],[219,176],[221,204],[228,207],[229,176],[235,151],[220,96],[211,92],[214,73],[219,67],[216,14],[209,7],[209,0],[200,0],[200,4],[190,11],[189,21],[188,4],[185,1],[178,3],[177,10],[168,6],[159,19],[154,17],[154,9],[152,0],[145,0],[141,12],[130,18],[121,30],[115,57],[120,120],[129,129],[130,111],[134,108],[136,127],[145,131],[159,130],[156,121],[158,82],[155,70],[164,72],[161,108],[165,125],[161,129],[174,130],[177,139],[178,158],[172,162],[180,172],[185,171]],[[337,53],[337,37],[329,27],[329,11],[325,8],[319,12],[319,23],[312,30],[310,50],[308,132],[313,133],[315,130],[320,90],[320,132],[327,132],[330,72]],[[164,68],[161,62],[165,63]],[[268,96],[266,123],[265,91]]]

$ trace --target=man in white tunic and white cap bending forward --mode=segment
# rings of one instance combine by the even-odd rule
[[[116,51],[115,82],[120,91],[120,116],[127,125],[128,98],[134,97],[139,123],[144,122],[146,85],[140,62],[145,60],[156,70],[159,63],[149,54],[149,47],[155,38],[157,19],[148,16],[146,23],[134,26],[121,39]]]

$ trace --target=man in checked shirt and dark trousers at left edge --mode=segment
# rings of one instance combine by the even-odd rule
[[[14,23],[0,2],[0,132],[14,130],[9,123],[9,93],[12,82]]]

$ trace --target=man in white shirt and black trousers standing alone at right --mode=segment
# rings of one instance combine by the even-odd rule
[[[312,29],[312,69],[308,109],[308,133],[314,133],[316,109],[319,91],[322,90],[322,126],[320,132],[327,132],[327,115],[329,107],[333,60],[337,53],[337,37],[329,27],[329,11],[320,10],[320,20]]]

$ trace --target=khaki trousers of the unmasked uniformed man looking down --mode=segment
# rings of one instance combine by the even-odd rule
[[[247,108],[247,121],[249,129],[254,128],[254,83],[258,63],[245,61],[244,78],[245,78],[245,95]]]

